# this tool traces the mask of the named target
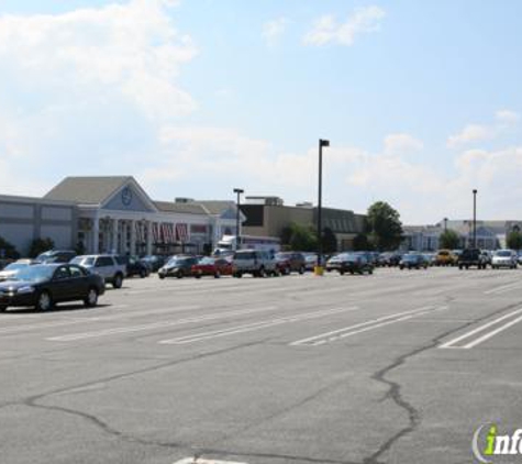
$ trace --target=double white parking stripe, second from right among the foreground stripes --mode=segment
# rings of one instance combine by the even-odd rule
[[[357,335],[358,333],[368,332],[370,330],[379,329],[385,325],[390,325],[397,322],[406,321],[419,316],[427,314],[434,311],[441,311],[447,309],[447,306],[443,307],[423,307],[413,309],[411,311],[397,312],[395,314],[385,316],[378,319],[371,319],[366,322],[360,322],[354,325],[345,327],[343,329],[333,330],[331,332],[321,333],[319,335],[309,336],[308,339],[298,340],[290,343],[290,346],[308,345],[319,346],[325,343],[332,343],[341,339]]]

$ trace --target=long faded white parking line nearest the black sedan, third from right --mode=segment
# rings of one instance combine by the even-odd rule
[[[52,341],[52,342],[71,342],[76,340],[96,339],[96,338],[116,335],[116,334],[122,334],[122,333],[133,333],[133,332],[146,331],[146,330],[164,329],[167,327],[206,322],[206,321],[212,321],[212,320],[222,319],[222,318],[229,318],[233,316],[252,314],[254,312],[274,311],[275,309],[277,309],[276,306],[266,306],[263,308],[242,309],[242,310],[235,310],[235,311],[222,311],[222,312],[215,312],[215,313],[204,314],[204,316],[199,316],[199,317],[193,317],[193,318],[177,319],[174,321],[159,321],[159,322],[152,322],[152,323],[141,324],[141,325],[116,327],[112,329],[103,329],[103,330],[98,330],[98,331],[51,336],[46,340]]]

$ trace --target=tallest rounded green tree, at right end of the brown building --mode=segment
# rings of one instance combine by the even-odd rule
[[[378,251],[396,250],[402,241],[402,223],[399,212],[386,201],[377,201],[368,208],[369,239]]]

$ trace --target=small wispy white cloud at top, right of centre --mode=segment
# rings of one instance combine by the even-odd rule
[[[304,44],[323,46],[327,44],[351,46],[358,35],[380,30],[386,12],[379,7],[358,8],[346,22],[338,24],[333,15],[315,21],[313,29],[304,35]]]

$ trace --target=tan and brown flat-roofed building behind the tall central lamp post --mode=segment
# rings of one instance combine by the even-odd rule
[[[285,228],[296,222],[316,224],[318,208],[312,203],[285,206],[279,197],[246,197],[241,205],[246,217],[242,225],[245,235],[280,236]],[[322,208],[323,228],[330,228],[337,239],[337,250],[353,250],[354,237],[364,231],[365,216],[349,210]]]

